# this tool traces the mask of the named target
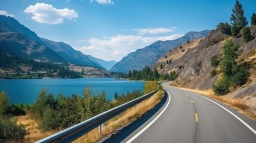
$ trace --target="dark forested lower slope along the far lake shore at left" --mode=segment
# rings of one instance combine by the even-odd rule
[[[68,77],[79,78],[82,77],[82,73],[69,70],[66,64],[51,64],[48,62],[38,62],[34,60],[23,59],[16,55],[7,55],[0,51],[0,67],[2,69],[12,69],[16,74],[0,74],[2,79],[16,79],[16,78],[42,78],[42,77]],[[27,72],[26,74],[20,74],[24,72],[20,66],[32,67],[31,71],[47,71],[45,73],[33,73]]]

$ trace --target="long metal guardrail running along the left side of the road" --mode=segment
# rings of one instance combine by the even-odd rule
[[[159,86],[158,86],[159,89]],[[87,132],[90,132],[92,129],[97,128],[98,126],[102,125],[103,123],[107,122],[107,120],[112,119],[113,117],[121,114],[125,110],[134,105],[140,103],[141,101],[145,100],[148,97],[151,97],[153,94],[158,91],[150,92],[149,94],[143,95],[142,97],[136,98],[135,100],[126,102],[125,104],[119,105],[118,107],[112,108],[110,110],[104,111],[97,116],[91,117],[90,119],[85,120],[84,122],[78,123],[70,128],[61,130],[53,135],[50,135],[44,139],[37,141],[39,142],[72,142],[75,139],[79,138],[80,136],[84,135]]]

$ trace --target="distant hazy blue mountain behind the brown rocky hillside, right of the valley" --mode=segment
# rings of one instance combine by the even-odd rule
[[[110,71],[128,73],[129,70],[141,70],[144,66],[152,66],[152,64],[159,60],[166,51],[174,48],[175,46],[181,45],[181,43],[203,38],[208,33],[209,30],[203,30],[202,32],[189,32],[181,38],[173,41],[156,41],[143,49],[137,49],[137,51],[131,52],[127,57],[122,58],[121,61],[116,63]]]

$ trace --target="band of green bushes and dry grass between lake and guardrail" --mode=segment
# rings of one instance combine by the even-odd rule
[[[114,101],[106,100],[104,92],[92,95],[91,86],[84,89],[82,97],[64,97],[58,94],[54,98],[46,89],[42,89],[32,105],[10,105],[10,100],[3,91],[0,94],[0,142],[38,141],[110,108],[134,100],[157,87],[157,82],[148,82],[144,86],[144,92],[133,91],[126,95],[116,93]]]

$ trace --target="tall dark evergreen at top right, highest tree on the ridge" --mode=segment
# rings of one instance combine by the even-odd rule
[[[248,25],[248,21],[244,16],[242,4],[240,4],[238,0],[236,0],[236,4],[232,12],[233,14],[231,14],[230,20],[233,25],[236,24],[238,31],[240,31],[243,27]]]

